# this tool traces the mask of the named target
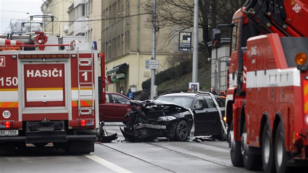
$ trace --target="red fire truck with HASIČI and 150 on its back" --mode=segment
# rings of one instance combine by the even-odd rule
[[[43,31],[31,34],[0,39],[0,153],[48,143],[69,153],[94,151],[104,54],[95,42],[58,44]]]

